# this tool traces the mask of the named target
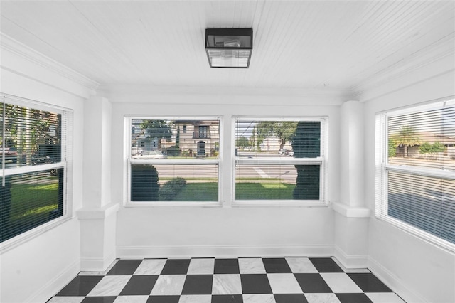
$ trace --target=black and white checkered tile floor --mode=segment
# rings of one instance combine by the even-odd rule
[[[48,303],[294,303],[404,301],[369,270],[331,257],[117,260],[80,272]]]

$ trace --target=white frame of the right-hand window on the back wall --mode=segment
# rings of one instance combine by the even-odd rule
[[[282,158],[277,157],[276,159],[238,159],[235,155],[235,127],[237,121],[294,121],[294,122],[321,122],[321,149],[320,156],[316,158]],[[328,206],[328,116],[232,116],[232,206],[237,207],[255,207],[255,206],[277,206],[277,207],[327,207]],[[319,172],[319,200],[236,200],[235,199],[235,170],[237,165],[252,165],[252,164],[264,164],[264,165],[320,165]]]

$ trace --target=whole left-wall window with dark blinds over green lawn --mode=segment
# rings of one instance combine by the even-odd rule
[[[71,113],[6,96],[0,107],[3,245],[68,217],[65,192]]]

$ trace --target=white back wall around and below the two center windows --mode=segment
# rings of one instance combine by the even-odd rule
[[[337,150],[339,104],[308,100],[287,105],[291,98],[230,95],[112,95],[112,200],[123,203],[124,115],[215,115],[221,117],[223,134],[230,138],[232,115],[328,116],[328,200],[339,196]],[[261,104],[258,106],[257,104]],[[326,104],[326,105],[324,105]],[[283,106],[287,105],[287,106]],[[222,148],[232,153],[227,140]],[[332,255],[333,211],[325,208],[230,207],[232,159],[220,164],[221,208],[124,208],[118,212],[117,257]]]

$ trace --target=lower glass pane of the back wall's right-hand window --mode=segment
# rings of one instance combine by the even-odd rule
[[[319,200],[319,165],[238,165],[236,200]]]

